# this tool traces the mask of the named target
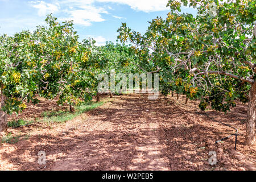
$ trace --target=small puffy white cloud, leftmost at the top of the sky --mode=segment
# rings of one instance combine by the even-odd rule
[[[44,1],[30,1],[32,5],[32,7],[38,9],[38,15],[39,16],[46,16],[47,14],[50,13],[56,13],[57,11],[59,11],[59,3],[46,3]]]

